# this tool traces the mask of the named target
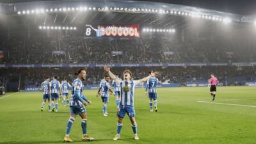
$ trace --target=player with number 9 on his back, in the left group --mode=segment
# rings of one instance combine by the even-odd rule
[[[59,93],[61,92],[61,90],[60,90],[60,82],[57,80],[57,76],[54,76],[52,78],[50,87],[51,87],[52,112],[54,112],[54,110],[58,112],[58,100],[59,100]],[[55,107],[54,107],[54,103],[55,103]]]

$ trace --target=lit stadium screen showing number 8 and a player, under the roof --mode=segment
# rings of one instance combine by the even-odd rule
[[[86,24],[84,27],[84,36],[114,36],[114,37],[140,37],[139,25],[92,25]]]

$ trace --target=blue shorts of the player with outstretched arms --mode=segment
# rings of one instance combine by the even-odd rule
[[[124,118],[125,113],[129,116],[129,118],[135,117],[135,109],[133,106],[124,106],[120,105],[117,111],[117,116],[119,118]]]

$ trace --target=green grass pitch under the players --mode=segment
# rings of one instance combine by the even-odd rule
[[[256,143],[256,108],[200,103],[211,102],[209,88],[159,88],[159,112],[150,113],[143,89],[136,89],[135,109],[139,141],[132,139],[125,115],[122,140],[116,134],[115,99],[110,96],[109,116],[102,116],[96,90],[84,92],[92,100],[87,106],[88,134],[94,141],[81,141],[81,118],[74,122],[74,143]],[[7,93],[0,98],[0,143],[62,143],[69,108],[59,102],[58,113],[41,112],[42,93]],[[9,95],[9,96],[8,96]],[[256,106],[255,87],[218,87],[216,102]]]

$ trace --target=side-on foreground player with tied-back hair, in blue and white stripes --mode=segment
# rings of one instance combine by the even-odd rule
[[[86,77],[86,70],[80,69],[75,73],[77,79],[72,83],[72,95],[70,97],[70,118],[67,123],[67,131],[64,138],[64,142],[72,142],[69,138],[70,130],[76,116],[79,115],[82,118],[81,127],[83,131],[82,140],[93,140],[92,137],[87,135],[87,113],[84,106],[91,104],[92,102],[83,95],[83,83],[82,80]]]

